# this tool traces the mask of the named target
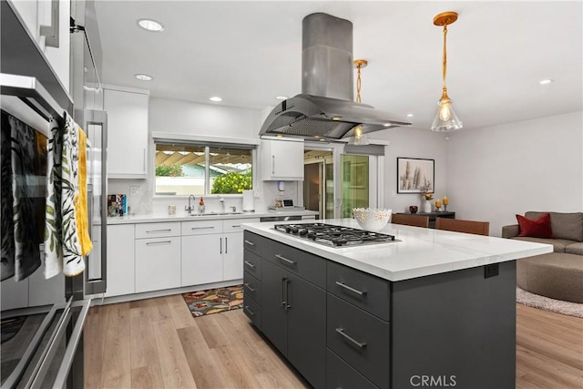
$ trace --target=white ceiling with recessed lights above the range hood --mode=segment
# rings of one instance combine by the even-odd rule
[[[325,12],[353,22],[362,101],[427,129],[441,96],[442,28],[448,27],[447,87],[465,128],[582,109],[583,3],[455,1],[97,0],[102,82],[153,97],[263,109],[302,92],[302,18]],[[165,31],[137,26],[153,18]],[[146,73],[153,81],[138,81]],[[354,76],[354,79],[356,77]],[[540,86],[544,78],[555,80]],[[354,87],[354,90],[356,88]],[[211,96],[223,101],[212,103]],[[258,129],[259,130],[259,129]]]

